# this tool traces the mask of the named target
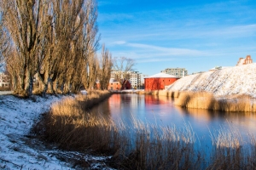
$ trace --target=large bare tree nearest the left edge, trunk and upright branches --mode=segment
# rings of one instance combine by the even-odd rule
[[[16,54],[20,58],[19,94],[32,94],[33,76],[38,68],[38,47],[42,38],[45,3],[41,0],[2,0],[4,8],[4,26],[14,43]]]

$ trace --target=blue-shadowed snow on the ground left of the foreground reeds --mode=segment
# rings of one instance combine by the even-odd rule
[[[63,98],[52,95],[20,99],[10,94],[0,95],[0,169],[73,169],[76,168],[71,163],[73,159],[90,162],[90,169],[109,169],[102,163],[108,157],[57,150],[31,138],[33,124],[49,111],[52,103]]]

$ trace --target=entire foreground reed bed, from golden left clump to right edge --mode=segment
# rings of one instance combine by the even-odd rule
[[[180,95],[182,97],[183,94]],[[250,149],[242,148],[236,129],[225,128],[212,133],[209,158],[195,150],[195,133],[189,123],[182,129],[161,127],[132,120],[128,127],[110,116],[93,115],[88,111],[108,92],[90,92],[52,105],[38,130],[44,139],[63,150],[94,151],[111,155],[106,162],[117,169],[255,169],[256,140],[251,137]]]

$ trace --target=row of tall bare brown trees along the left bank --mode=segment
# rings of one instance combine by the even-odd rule
[[[1,0],[0,8],[9,47],[3,56],[16,94],[76,93],[96,80],[108,88],[112,59],[104,46],[96,56],[94,0]]]

